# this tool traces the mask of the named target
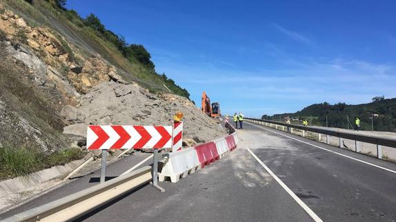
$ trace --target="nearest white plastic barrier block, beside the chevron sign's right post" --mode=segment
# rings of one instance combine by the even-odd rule
[[[200,168],[201,164],[194,147],[169,153],[168,159],[159,173],[159,181],[165,181],[166,177],[170,177],[170,181],[176,183],[180,177],[187,177],[188,173],[194,173]]]

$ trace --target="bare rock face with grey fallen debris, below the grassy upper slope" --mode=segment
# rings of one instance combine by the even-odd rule
[[[177,111],[185,115],[186,146],[225,134],[190,100],[149,93],[55,30],[30,27],[1,3],[0,12],[8,40],[0,42],[0,146],[82,146],[88,124],[170,125]]]

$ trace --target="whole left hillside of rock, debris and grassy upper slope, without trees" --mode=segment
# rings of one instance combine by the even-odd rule
[[[84,148],[88,124],[170,124],[176,111],[185,144],[225,133],[176,86],[103,39],[89,41],[63,13],[52,1],[0,2],[0,151]],[[10,158],[0,157],[2,167]]]

